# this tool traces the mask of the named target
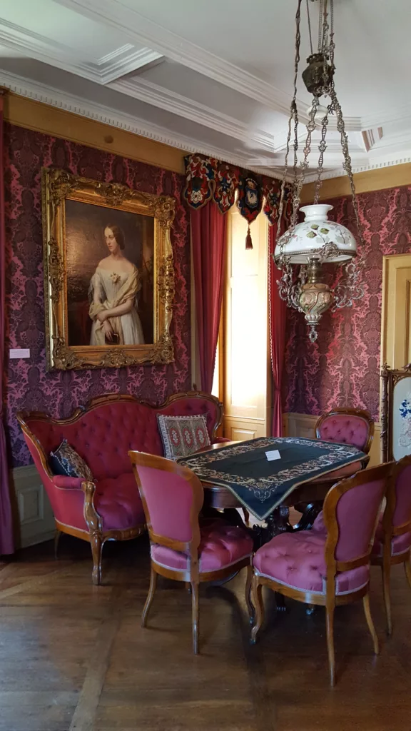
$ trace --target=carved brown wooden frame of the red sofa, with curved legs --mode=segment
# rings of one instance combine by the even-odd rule
[[[37,437],[34,436],[34,434],[31,432],[28,425],[29,420],[36,419],[61,425],[72,424],[80,419],[80,417],[82,417],[83,414],[85,414],[86,412],[91,412],[94,409],[97,409],[102,404],[107,404],[113,401],[135,401],[138,404],[143,404],[144,406],[148,406],[149,408],[158,411],[160,409],[165,409],[165,407],[169,406],[169,404],[173,403],[173,401],[178,401],[181,398],[207,398],[209,401],[214,401],[214,403],[216,404],[217,413],[216,423],[214,424],[211,435],[212,438],[214,438],[214,436],[216,435],[216,431],[219,428],[219,425],[222,423],[222,404],[215,396],[209,393],[203,393],[202,391],[185,391],[183,393],[175,393],[166,398],[166,400],[162,404],[159,404],[159,406],[154,406],[153,404],[149,404],[146,401],[142,401],[138,398],[135,398],[135,396],[126,393],[106,393],[104,395],[97,396],[96,398],[91,398],[86,406],[79,406],[77,409],[75,409],[71,416],[67,417],[67,419],[53,419],[48,416],[48,414],[45,414],[43,412],[25,411],[18,412],[17,419],[23,433],[26,436],[26,439],[30,440],[30,442],[34,445],[35,449],[39,453],[42,468],[44,469],[50,480],[53,480],[53,474],[48,464],[47,455],[45,455],[42,445],[40,444]],[[54,485],[54,489],[63,490],[64,488],[58,488],[56,485]],[[96,485],[94,484],[94,482],[88,482],[87,480],[85,480],[81,483],[81,489],[84,493],[84,518],[86,519],[88,531],[83,531],[82,529],[69,526],[66,523],[61,523],[59,520],[55,519],[55,555],[57,556],[59,539],[62,533],[67,533],[71,536],[74,536],[75,538],[80,538],[89,542],[91,545],[91,555],[93,558],[92,581],[94,584],[99,584],[102,580],[102,549],[105,542],[108,540],[125,541],[136,538],[137,536],[140,536],[141,534],[146,532],[146,523],[142,523],[139,526],[135,526],[135,528],[127,530],[104,531],[102,529],[102,519],[97,512],[96,507],[94,506],[94,494],[96,492]]]

